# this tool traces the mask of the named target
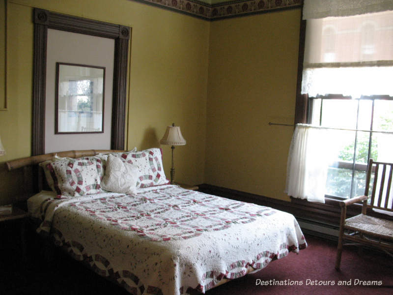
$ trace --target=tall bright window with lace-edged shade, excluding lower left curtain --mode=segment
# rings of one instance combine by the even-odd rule
[[[393,162],[393,11],[307,20],[307,123],[340,130],[326,196],[364,194],[369,158]]]

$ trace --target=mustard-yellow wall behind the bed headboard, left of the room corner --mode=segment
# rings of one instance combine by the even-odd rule
[[[130,0],[9,0],[0,203],[21,192],[21,174],[6,172],[3,163],[31,153],[32,7],[132,27],[127,147],[159,147],[166,126],[174,122],[187,140],[175,149],[176,180],[203,182],[209,22]],[[170,147],[162,148],[169,177]]]

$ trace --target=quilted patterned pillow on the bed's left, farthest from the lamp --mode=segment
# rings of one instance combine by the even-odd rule
[[[45,161],[40,166],[48,185],[58,195],[74,197],[101,192],[96,161],[70,158]]]

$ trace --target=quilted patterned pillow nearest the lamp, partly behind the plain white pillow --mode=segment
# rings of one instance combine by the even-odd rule
[[[136,152],[113,153],[123,162],[138,166],[137,188],[168,184],[165,177],[160,148],[149,148]]]

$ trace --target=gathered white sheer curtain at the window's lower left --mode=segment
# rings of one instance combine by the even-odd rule
[[[329,166],[337,158],[334,130],[297,124],[288,154],[285,192],[294,198],[325,203]]]

